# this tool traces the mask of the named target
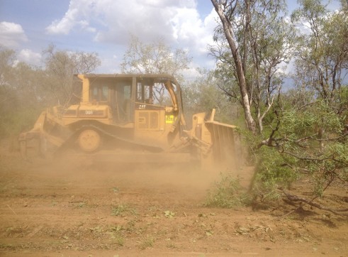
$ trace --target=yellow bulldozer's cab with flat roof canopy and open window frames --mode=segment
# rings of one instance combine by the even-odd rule
[[[82,81],[81,105],[109,106],[113,124],[133,123],[137,129],[163,130],[160,116],[167,123],[174,123],[175,114],[182,109],[179,84],[168,75],[77,77]]]

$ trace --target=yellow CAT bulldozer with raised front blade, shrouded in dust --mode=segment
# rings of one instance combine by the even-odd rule
[[[18,138],[21,155],[66,151],[121,162],[232,163],[236,127],[193,114],[187,128],[181,87],[171,75],[81,74],[75,104],[43,111]]]

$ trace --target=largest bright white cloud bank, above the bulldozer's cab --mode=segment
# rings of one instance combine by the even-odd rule
[[[208,55],[217,14],[201,17],[197,0],[71,0],[64,16],[47,33],[92,33],[95,43],[127,45],[130,35],[144,43],[163,38],[173,48],[187,49],[193,60]]]

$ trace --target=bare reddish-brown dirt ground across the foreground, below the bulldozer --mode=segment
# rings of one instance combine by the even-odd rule
[[[348,256],[347,218],[330,212],[203,207],[218,170],[89,158],[33,164],[6,149],[0,256]],[[247,185],[252,169],[235,175]],[[308,190],[305,180],[294,187]],[[347,207],[347,196],[337,185],[321,201]]]

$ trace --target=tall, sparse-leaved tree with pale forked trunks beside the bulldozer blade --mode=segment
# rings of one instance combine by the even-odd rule
[[[221,25],[211,53],[218,60],[220,87],[240,101],[249,131],[264,130],[263,120],[281,90],[282,64],[291,58],[293,27],[282,0],[211,0]]]

